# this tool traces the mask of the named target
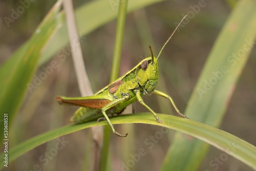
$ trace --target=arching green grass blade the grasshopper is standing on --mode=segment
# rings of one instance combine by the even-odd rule
[[[156,122],[155,118],[152,116],[151,113],[120,115],[118,117],[111,118],[111,122],[113,124],[145,123],[152,125],[160,125],[167,127],[169,129],[174,129],[187,135],[201,139],[221,149],[224,152],[228,151],[230,156],[233,156],[234,158],[237,158],[238,160],[249,165],[250,167],[256,169],[256,147],[249,144],[248,142],[245,142],[242,139],[233,136],[227,132],[216,129],[215,127],[211,127],[197,121],[184,119],[172,115],[158,114],[158,116],[161,118],[162,123]],[[44,134],[38,135],[11,148],[9,151],[9,163],[12,162],[14,159],[18,158],[19,156],[22,156],[23,154],[27,153],[31,149],[45,142],[53,140],[57,137],[67,135],[82,129],[86,129],[91,126],[107,124],[108,123],[106,121],[93,121],[78,125],[67,125],[59,127],[56,130],[52,130]],[[187,137],[185,135],[183,136]],[[65,138],[61,139],[65,140]],[[0,157],[3,158],[4,153],[2,153]],[[1,168],[3,168],[3,162],[0,165],[0,169]]]

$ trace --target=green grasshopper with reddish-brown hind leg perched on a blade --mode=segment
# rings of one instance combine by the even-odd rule
[[[185,17],[183,17],[183,19]],[[169,39],[173,36],[177,28],[182,23],[183,19],[176,27],[172,35],[170,35],[168,40],[165,42],[157,57],[153,55],[152,48],[150,47],[151,57],[143,59],[132,70],[118,78],[113,83],[104,87],[93,96],[56,97],[59,104],[73,104],[81,106],[81,108],[75,112],[74,116],[71,118],[71,121],[75,124],[79,124],[93,120],[99,121],[101,118],[103,118],[109,122],[113,133],[119,137],[126,137],[127,133],[122,135],[115,131],[109,116],[121,114],[126,106],[134,103],[135,101],[139,101],[140,104],[144,105],[154,115],[157,122],[161,123],[162,121],[159,119],[157,114],[149,106],[147,106],[141,98],[141,96],[145,94],[150,95],[152,93],[169,99],[176,113],[183,118],[187,118],[180,113],[173,99],[169,95],[155,90],[158,83],[157,60]]]

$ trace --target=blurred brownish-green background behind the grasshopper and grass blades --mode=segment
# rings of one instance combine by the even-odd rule
[[[89,1],[73,2],[77,8]],[[35,1],[31,3],[30,7],[20,14],[15,22],[10,23],[10,27],[7,27],[4,17],[10,16],[12,9],[20,6],[20,2],[0,2],[0,65],[30,38],[54,3],[54,1]],[[186,14],[187,11],[191,10],[191,5],[197,4],[198,1],[165,1],[127,14],[120,76],[132,69],[141,59],[150,56],[150,51],[147,49],[148,45],[154,43],[152,45],[155,46],[153,51],[157,55],[166,39],[175,29],[174,23],[180,21],[182,14]],[[194,18],[189,19],[184,28],[180,28],[179,32],[175,33],[159,59],[159,69],[163,76],[159,78],[158,90],[172,96],[181,112],[184,112],[209,51],[236,1],[207,1],[206,4]],[[112,8],[111,5],[109,8]],[[148,25],[143,25],[144,18],[142,17],[146,17]],[[147,27],[145,31],[150,30],[150,35],[145,36],[149,39],[152,37],[153,42],[147,42],[146,38],[141,39],[144,32],[143,26]],[[82,39],[81,46],[84,63],[94,92],[109,83],[115,31],[116,19],[84,36]],[[254,123],[256,119],[254,115],[256,111],[255,54],[254,48],[237,87],[234,88],[230,102],[227,104],[229,108],[220,126],[221,130],[236,135],[253,145],[256,144],[254,136],[254,131],[256,130]],[[57,95],[80,96],[70,56],[67,56],[66,60],[63,61],[53,57],[42,66],[39,66],[35,75],[39,76],[44,71],[44,67],[51,65],[52,60],[59,61],[59,66],[53,69],[47,79],[43,80],[36,89],[33,89],[32,92],[27,92],[22,108],[15,118],[14,126],[11,127],[15,131],[11,137],[10,145],[17,144],[61,125],[69,124],[69,118],[77,109],[75,106],[59,106],[55,102],[55,96]],[[167,90],[164,90],[165,87]],[[170,104],[164,99],[165,108],[160,109],[155,95],[144,96],[143,99],[156,112],[163,111],[162,113],[167,113],[166,111],[170,108]],[[142,111],[146,110],[136,103],[136,112]],[[115,125],[115,127],[120,132],[126,132],[127,130],[119,125]],[[134,152],[130,153],[134,154],[138,152],[139,148],[145,148],[146,155],[136,164],[136,168],[131,170],[159,170],[165,157],[166,149],[169,143],[172,142],[175,132],[169,130],[166,134],[167,136],[163,136],[150,149],[144,141],[161,131],[161,127],[136,124],[134,129],[134,134],[129,135],[134,138],[130,139],[132,144],[129,145],[134,147]],[[53,140],[19,157],[11,163],[7,170],[32,170],[37,164],[42,170],[81,170],[82,167],[87,167],[88,170],[91,170],[94,156],[93,152],[90,151],[93,147],[91,136],[90,129],[64,136],[69,143],[58,151],[56,156],[49,159],[48,164],[44,165],[46,161],[40,161],[39,158],[41,155],[46,155],[45,152],[51,150],[51,145],[58,142]],[[123,141],[125,139],[112,135],[111,155],[114,170],[120,170],[122,162],[126,163],[131,159],[129,156],[121,156],[121,152],[125,150],[125,146],[120,145],[125,144]],[[87,157],[84,157],[85,154],[87,154]],[[223,152],[219,151],[219,149],[211,147],[199,170],[215,170],[216,167],[210,165],[210,162],[220,158],[222,154]],[[123,158],[123,160],[120,158]],[[225,161],[219,164],[218,170],[252,169],[237,159],[228,156]]]

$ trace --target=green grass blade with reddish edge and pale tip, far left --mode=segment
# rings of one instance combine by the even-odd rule
[[[22,104],[26,91],[30,89],[28,83],[37,68],[41,50],[46,47],[52,35],[61,25],[62,18],[57,17],[59,9],[60,3],[56,3],[27,42],[25,49],[18,50],[12,56],[15,60],[11,59],[5,62],[0,69],[1,113],[8,113],[9,126],[11,126],[15,114]],[[4,130],[3,126],[4,124],[1,123],[1,130]],[[2,137],[3,134],[1,141],[3,140]]]

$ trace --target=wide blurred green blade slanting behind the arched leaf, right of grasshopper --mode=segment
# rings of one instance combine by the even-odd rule
[[[256,36],[255,9],[256,1],[240,1],[230,14],[188,102],[185,115],[189,118],[214,127],[221,124]],[[162,170],[198,170],[208,146],[177,133]]]

